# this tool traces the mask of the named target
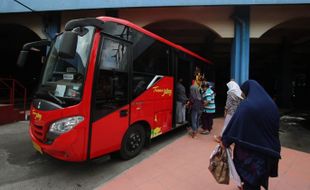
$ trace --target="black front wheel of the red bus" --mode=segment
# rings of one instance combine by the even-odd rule
[[[128,160],[137,156],[145,143],[145,130],[142,125],[136,124],[127,130],[120,150],[122,159]]]

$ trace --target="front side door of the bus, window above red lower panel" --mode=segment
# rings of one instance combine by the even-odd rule
[[[94,77],[90,158],[118,150],[129,125],[130,44],[101,40]]]

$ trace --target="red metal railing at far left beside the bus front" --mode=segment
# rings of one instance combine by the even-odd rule
[[[7,94],[5,94],[7,91]],[[4,92],[4,93],[3,93]],[[23,99],[23,111],[26,114],[27,89],[16,79],[0,78],[0,103],[11,104],[16,108],[16,98]]]

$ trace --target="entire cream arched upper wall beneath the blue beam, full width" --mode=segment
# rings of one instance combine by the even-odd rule
[[[250,10],[250,37],[259,38],[265,32],[285,21],[310,18],[310,6],[252,6]],[[222,38],[234,37],[234,22],[231,19],[233,7],[170,7],[120,9],[119,17],[142,27],[164,20],[188,20],[202,24]],[[61,31],[65,23],[74,18],[96,17],[105,15],[104,10],[65,11],[61,13]],[[42,16],[37,14],[7,14],[0,16],[0,24],[19,24],[31,29],[40,38],[44,34]]]

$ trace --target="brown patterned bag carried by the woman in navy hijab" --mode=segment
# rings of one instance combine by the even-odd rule
[[[216,182],[229,184],[229,166],[226,148],[217,145],[210,156],[208,167]]]

